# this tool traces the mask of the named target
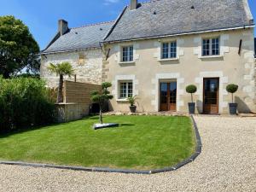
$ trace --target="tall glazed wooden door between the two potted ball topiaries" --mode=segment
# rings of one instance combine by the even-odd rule
[[[218,113],[218,78],[204,79],[204,113]]]

